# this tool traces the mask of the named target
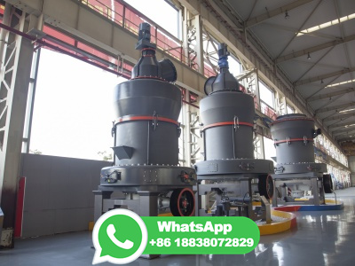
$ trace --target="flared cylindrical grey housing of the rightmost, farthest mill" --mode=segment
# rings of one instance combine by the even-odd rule
[[[314,121],[304,114],[279,116],[271,124],[278,165],[314,162]]]

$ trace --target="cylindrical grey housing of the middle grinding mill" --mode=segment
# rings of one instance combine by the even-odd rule
[[[254,158],[255,109],[250,95],[218,90],[203,98],[200,108],[206,160]]]

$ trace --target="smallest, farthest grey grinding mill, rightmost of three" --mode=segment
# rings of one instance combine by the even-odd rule
[[[271,123],[271,133],[277,160],[272,206],[325,204],[331,181],[323,175],[327,165],[314,162],[313,139],[321,134],[314,121],[300,113],[282,115]]]

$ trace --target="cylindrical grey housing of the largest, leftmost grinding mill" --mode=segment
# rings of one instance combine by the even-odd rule
[[[117,85],[114,94],[115,146],[131,151],[131,158],[115,153],[116,164],[177,165],[180,90],[168,82],[138,79]]]

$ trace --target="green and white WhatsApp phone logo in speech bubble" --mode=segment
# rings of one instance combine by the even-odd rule
[[[146,224],[134,212],[116,208],[99,217],[92,231],[95,254],[92,264],[125,264],[136,260],[145,250]]]

